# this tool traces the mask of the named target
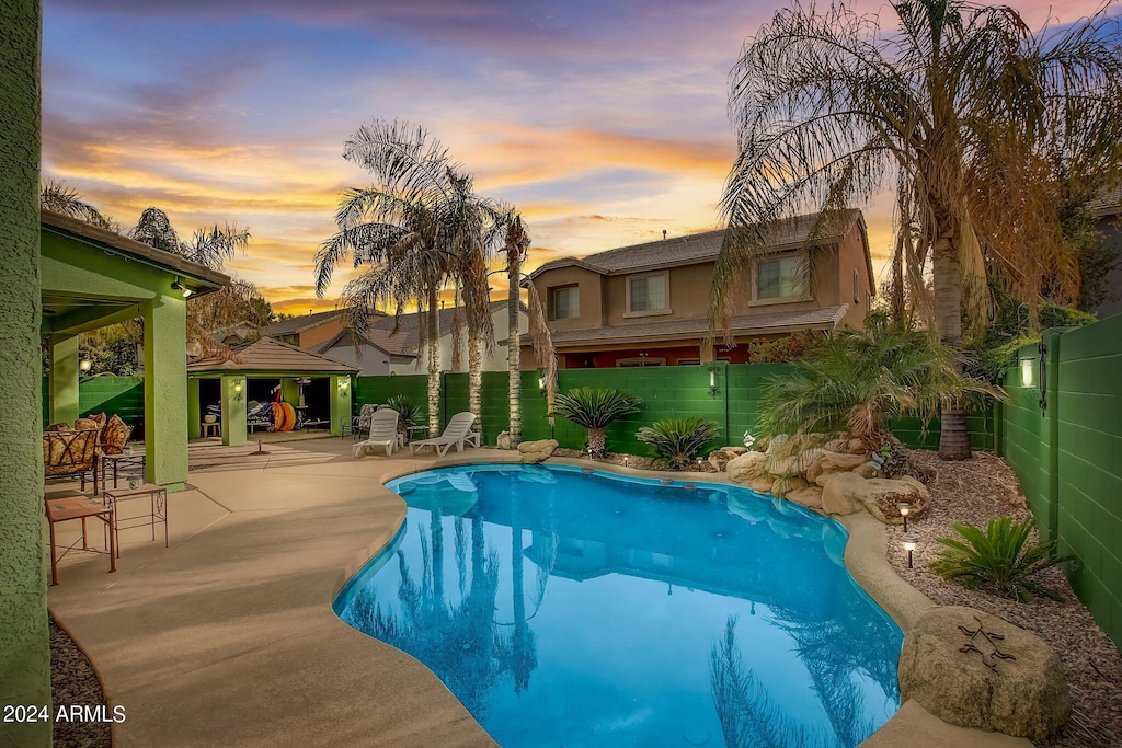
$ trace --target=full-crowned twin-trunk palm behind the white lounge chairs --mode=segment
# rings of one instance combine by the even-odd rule
[[[487,252],[503,206],[472,192],[472,179],[448,149],[423,128],[374,121],[343,148],[343,158],[375,175],[376,185],[348,190],[335,214],[339,231],[315,256],[315,288],[322,296],[335,266],[351,257],[373,266],[343,290],[348,324],[366,332],[379,304],[416,304],[424,324],[419,345],[427,352],[429,425],[440,428],[440,293],[450,283],[465,299],[469,381],[478,416],[481,349],[494,347],[487,293]],[[489,343],[488,343],[489,341]]]

